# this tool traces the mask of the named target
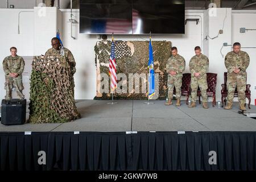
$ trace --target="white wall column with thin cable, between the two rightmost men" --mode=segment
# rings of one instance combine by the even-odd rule
[[[224,83],[224,72],[226,71],[224,64],[224,57],[221,55],[221,47],[224,42],[231,42],[232,37],[232,10],[231,9],[208,9],[208,40],[204,39],[207,44],[208,57],[209,57],[209,70],[210,73],[217,73],[217,86],[216,86],[216,101],[221,101],[221,84]],[[206,17],[205,17],[206,18]],[[222,30],[223,34],[218,34]],[[214,37],[217,38],[213,39]],[[223,54],[230,51],[229,47],[222,49]],[[225,56],[225,55],[224,55]],[[209,97],[209,99],[211,99]]]

